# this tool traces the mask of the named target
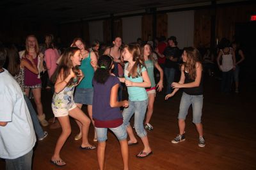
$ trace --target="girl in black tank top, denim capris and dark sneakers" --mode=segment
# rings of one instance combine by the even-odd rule
[[[185,120],[188,114],[188,109],[192,104],[193,108],[193,123],[196,125],[196,130],[199,134],[199,147],[205,146],[203,137],[203,125],[201,123],[202,107],[203,107],[203,84],[202,84],[202,63],[200,61],[200,53],[195,47],[186,47],[182,54],[183,64],[181,66],[181,75],[179,82],[173,82],[173,92],[166,95],[167,100],[173,97],[175,93],[182,88],[183,93],[180,101],[179,111],[179,134],[172,143],[180,143],[185,141]]]

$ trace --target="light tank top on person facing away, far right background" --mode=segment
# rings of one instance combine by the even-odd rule
[[[229,53],[225,54],[223,52],[223,50],[221,50],[222,52],[222,64],[221,64],[221,70],[223,72],[228,72],[233,68],[233,55],[232,55],[232,49],[230,48]]]

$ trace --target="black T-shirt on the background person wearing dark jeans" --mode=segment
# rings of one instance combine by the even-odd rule
[[[164,66],[167,68],[178,68],[178,62],[177,61],[171,61],[169,59],[170,56],[173,58],[178,58],[180,57],[180,50],[178,47],[166,47],[163,52],[164,56],[166,56],[165,64]]]

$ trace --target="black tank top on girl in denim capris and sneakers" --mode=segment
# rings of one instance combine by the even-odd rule
[[[189,83],[189,82],[194,82],[195,80],[191,79],[189,77],[188,72],[184,70],[184,75],[185,75],[185,82],[184,83]],[[200,85],[198,87],[194,88],[183,88],[183,91],[188,94],[188,95],[203,95],[203,72],[202,72],[202,77],[200,80]]]

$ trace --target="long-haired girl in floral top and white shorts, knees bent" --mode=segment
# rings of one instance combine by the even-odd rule
[[[60,65],[58,65],[56,72],[52,75],[52,82],[55,84],[55,93],[52,97],[52,111],[54,116],[58,118],[62,128],[54,155],[51,158],[51,162],[56,166],[65,166],[66,164],[60,157],[60,150],[71,134],[69,116],[81,123],[83,142],[80,148],[87,150],[96,148],[88,142],[90,119],[85,116],[84,112],[74,102],[75,86],[84,77],[78,65],[81,65],[81,50],[77,47],[69,47],[63,53]]]

